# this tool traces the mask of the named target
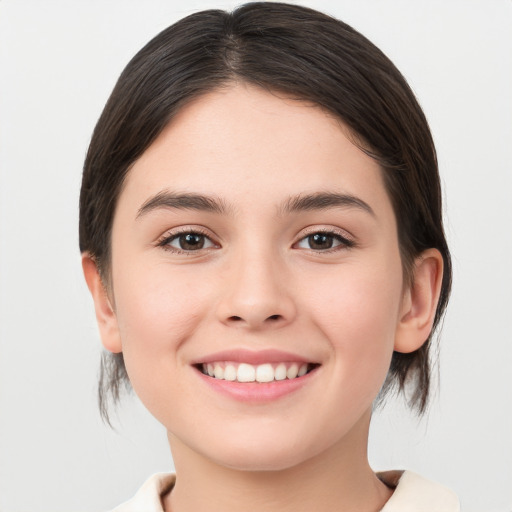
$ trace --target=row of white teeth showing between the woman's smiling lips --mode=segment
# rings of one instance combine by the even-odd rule
[[[315,363],[264,363],[252,365],[236,362],[202,363],[196,367],[213,379],[230,382],[274,382],[304,377],[319,365]]]

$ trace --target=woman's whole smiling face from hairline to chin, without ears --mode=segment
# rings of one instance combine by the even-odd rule
[[[315,106],[209,93],[128,174],[115,349],[171,448],[241,469],[346,448],[367,429],[403,296],[381,171]]]

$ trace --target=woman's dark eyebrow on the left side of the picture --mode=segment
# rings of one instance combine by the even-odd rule
[[[151,211],[165,208],[199,210],[219,214],[224,214],[228,210],[226,204],[216,197],[162,190],[144,202],[144,204],[139,208],[136,218],[139,218]]]

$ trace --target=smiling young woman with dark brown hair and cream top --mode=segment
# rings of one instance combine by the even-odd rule
[[[116,510],[458,510],[367,458],[376,400],[427,406],[441,210],[414,95],[344,23],[253,3],[149,42],[80,197],[102,412],[129,380],[176,466]]]

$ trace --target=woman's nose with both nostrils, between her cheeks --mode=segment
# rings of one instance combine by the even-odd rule
[[[293,279],[269,253],[239,255],[223,273],[219,320],[251,330],[283,327],[295,318]]]

